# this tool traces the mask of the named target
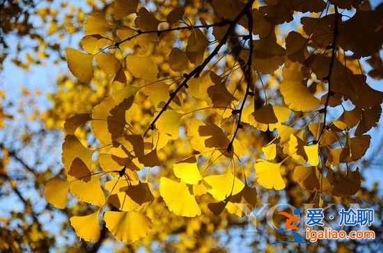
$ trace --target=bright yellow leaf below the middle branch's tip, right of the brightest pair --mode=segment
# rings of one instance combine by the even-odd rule
[[[225,174],[204,177],[203,181],[208,184],[208,193],[218,201],[236,195],[244,188],[244,183],[229,171]]]

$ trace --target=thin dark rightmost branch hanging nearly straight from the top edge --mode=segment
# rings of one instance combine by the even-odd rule
[[[336,40],[338,38],[338,33],[339,33],[339,28],[338,28],[339,13],[338,13],[338,7],[336,5],[334,5],[334,10],[335,10],[334,37],[333,37],[332,44],[331,44],[331,60],[330,60],[330,65],[329,65],[329,74],[327,74],[327,77],[326,77],[326,79],[329,82],[329,90],[327,92],[325,108],[323,108],[323,113],[324,114],[323,114],[322,129],[321,129],[320,134],[318,136],[317,142],[320,141],[320,138],[322,137],[323,133],[325,132],[325,129],[327,128],[327,124],[326,124],[327,108],[329,106],[330,96],[332,95],[332,92],[331,92],[331,75],[332,75],[332,72],[333,72],[333,69],[334,69],[334,63],[335,63],[335,57],[336,57]]]

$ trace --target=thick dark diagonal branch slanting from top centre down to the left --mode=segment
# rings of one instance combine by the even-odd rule
[[[166,104],[164,105],[164,107],[161,109],[161,111],[159,111],[159,113],[157,114],[155,119],[150,123],[148,129],[146,129],[145,133],[143,133],[143,136],[146,136],[146,133],[148,133],[148,131],[150,129],[155,128],[155,123],[157,122],[159,117],[161,117],[162,113],[164,113],[166,111],[166,109],[168,108],[171,101],[173,101],[173,98],[178,94],[178,92],[180,90],[182,90],[182,88],[188,87],[187,82],[189,81],[189,79],[191,79],[192,77],[198,77],[201,74],[201,72],[203,71],[203,69],[206,67],[206,65],[208,65],[208,63],[210,63],[210,60],[212,60],[212,58],[214,58],[214,56],[216,56],[218,54],[219,49],[221,49],[221,47],[224,46],[224,44],[226,44],[226,41],[228,40],[230,33],[233,31],[233,28],[235,28],[235,25],[237,24],[237,22],[240,21],[240,19],[243,17],[243,15],[245,15],[246,13],[248,13],[251,10],[251,6],[253,6],[254,1],[255,0],[250,0],[247,3],[247,5],[244,7],[244,9],[240,12],[240,14],[237,15],[237,17],[235,17],[235,19],[233,19],[232,21],[228,22],[229,27],[228,27],[228,30],[226,31],[225,35],[224,35],[224,38],[222,38],[222,40],[219,42],[217,47],[214,48],[212,53],[209,54],[209,56],[207,58],[205,58],[205,60],[203,60],[203,63],[201,63],[201,65],[195,67],[194,70],[192,70],[192,72],[190,72],[189,74],[185,74],[185,79],[182,81],[182,83],[180,83],[180,85],[178,85],[178,87],[173,92],[171,92],[171,95],[170,95],[168,101],[166,101]],[[251,16],[251,19],[252,19],[252,16]]]

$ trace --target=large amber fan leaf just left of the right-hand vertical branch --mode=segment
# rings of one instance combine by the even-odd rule
[[[285,65],[280,90],[288,108],[295,111],[313,111],[320,106],[320,100],[304,85],[301,67],[299,63]]]

